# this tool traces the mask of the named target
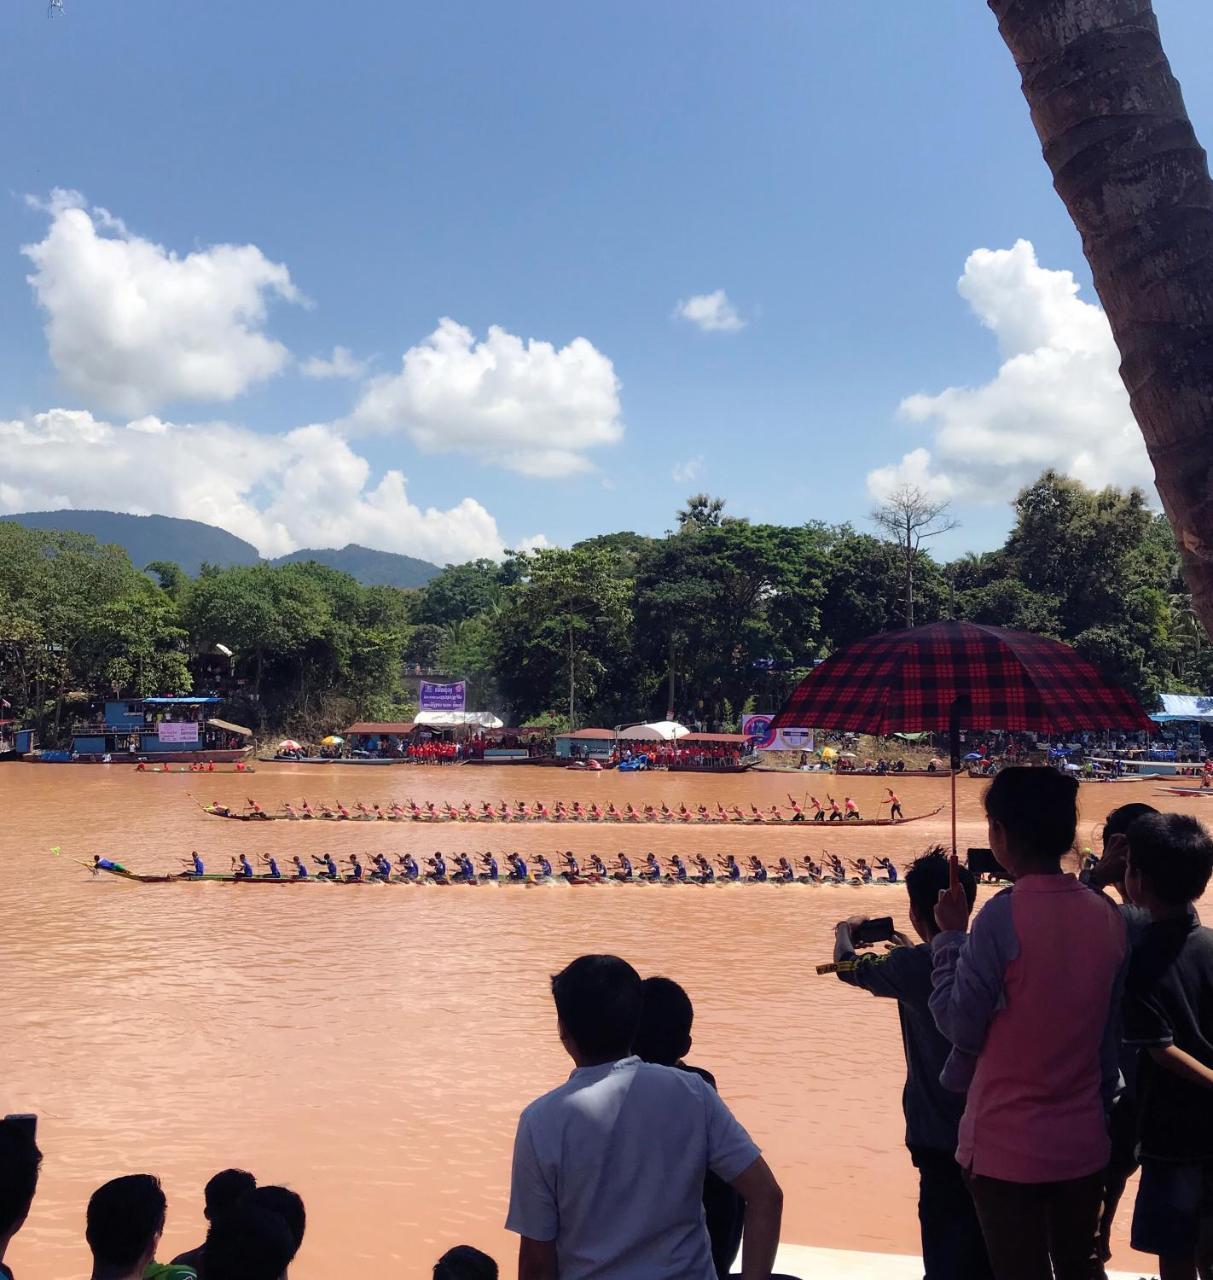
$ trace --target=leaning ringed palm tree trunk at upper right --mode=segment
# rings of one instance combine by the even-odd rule
[[[1213,630],[1213,182],[1150,0],[988,0]]]

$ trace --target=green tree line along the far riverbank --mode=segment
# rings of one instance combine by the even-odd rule
[[[944,617],[1053,635],[1153,705],[1203,691],[1213,650],[1166,518],[1136,489],[1048,471],[1001,548],[923,545],[947,512],[912,492],[850,524],[772,525],[694,495],[665,536],[444,568],[420,590],[316,563],[142,570],[118,547],[0,524],[0,694],[44,739],[83,696],[212,689],[258,730],[407,719],[409,672],[470,684],[509,723],[617,724],[672,710],[711,728],[777,708],[813,662]],[[917,506],[915,503],[917,502]],[[912,508],[907,512],[906,507]],[[230,652],[230,657],[228,657]]]

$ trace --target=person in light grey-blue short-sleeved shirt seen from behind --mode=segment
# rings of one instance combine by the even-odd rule
[[[746,1201],[742,1275],[770,1276],[783,1193],[702,1079],[630,1056],[642,1000],[636,970],[617,956],[581,956],[551,979],[551,993],[576,1070],[518,1120],[505,1224],[522,1236],[518,1280],[715,1280],[702,1207],[709,1169]]]

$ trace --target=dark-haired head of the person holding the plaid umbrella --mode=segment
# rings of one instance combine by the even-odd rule
[[[1048,765],[994,774],[985,792],[990,850],[1012,879],[1057,874],[1074,849],[1077,799],[1077,781]]]

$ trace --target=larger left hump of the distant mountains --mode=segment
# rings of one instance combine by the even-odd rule
[[[261,557],[252,543],[225,529],[198,520],[175,516],[127,516],[116,511],[31,511],[20,516],[0,516],[27,529],[65,529],[92,534],[99,543],[125,547],[131,562],[143,568],[152,561],[174,561],[187,573],[197,573],[202,562],[256,564]]]

